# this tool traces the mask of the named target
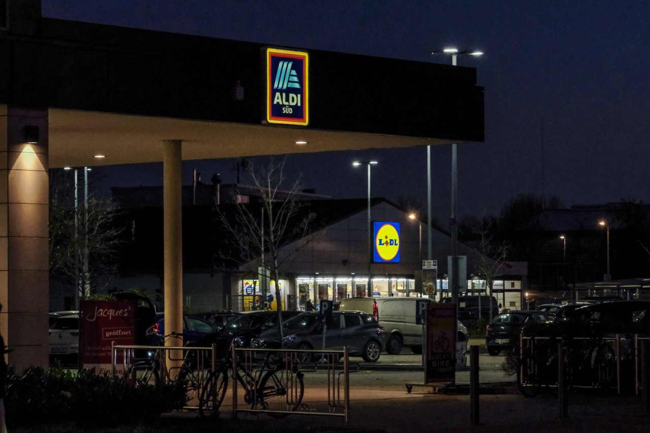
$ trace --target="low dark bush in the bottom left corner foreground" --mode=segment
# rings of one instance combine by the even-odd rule
[[[10,427],[74,423],[112,426],[149,422],[185,406],[183,386],[130,387],[123,378],[29,367],[6,383],[6,423]]]

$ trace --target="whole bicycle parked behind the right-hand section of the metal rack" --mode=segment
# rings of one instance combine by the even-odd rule
[[[233,348],[238,339],[233,338],[225,357],[216,362],[213,373],[201,391],[199,414],[201,417],[218,415],[228,387],[228,378],[237,380],[242,387],[244,402],[253,410],[264,410],[272,417],[286,417],[287,411],[300,407],[304,395],[303,373],[294,364],[293,353],[266,352],[261,363],[255,362],[257,352],[244,352],[233,370]],[[240,358],[240,357],[238,357]],[[244,367],[242,368],[243,361]],[[230,372],[231,371],[231,372]],[[230,372],[230,374],[229,374]]]

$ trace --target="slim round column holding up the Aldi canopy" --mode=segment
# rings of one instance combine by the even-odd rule
[[[183,226],[181,140],[164,140],[162,157],[164,228],[164,332],[183,332]],[[170,339],[168,346],[178,346]]]

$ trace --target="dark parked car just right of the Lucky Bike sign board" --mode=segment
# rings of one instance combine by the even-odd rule
[[[497,356],[501,350],[519,345],[521,332],[533,333],[548,326],[549,315],[543,311],[510,311],[497,315],[486,329],[487,352]]]

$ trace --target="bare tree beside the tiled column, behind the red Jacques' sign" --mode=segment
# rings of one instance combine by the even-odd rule
[[[57,194],[49,206],[50,272],[75,287],[75,304],[97,293],[117,272],[116,248],[121,228],[110,199],[88,196],[76,206],[65,205]]]

